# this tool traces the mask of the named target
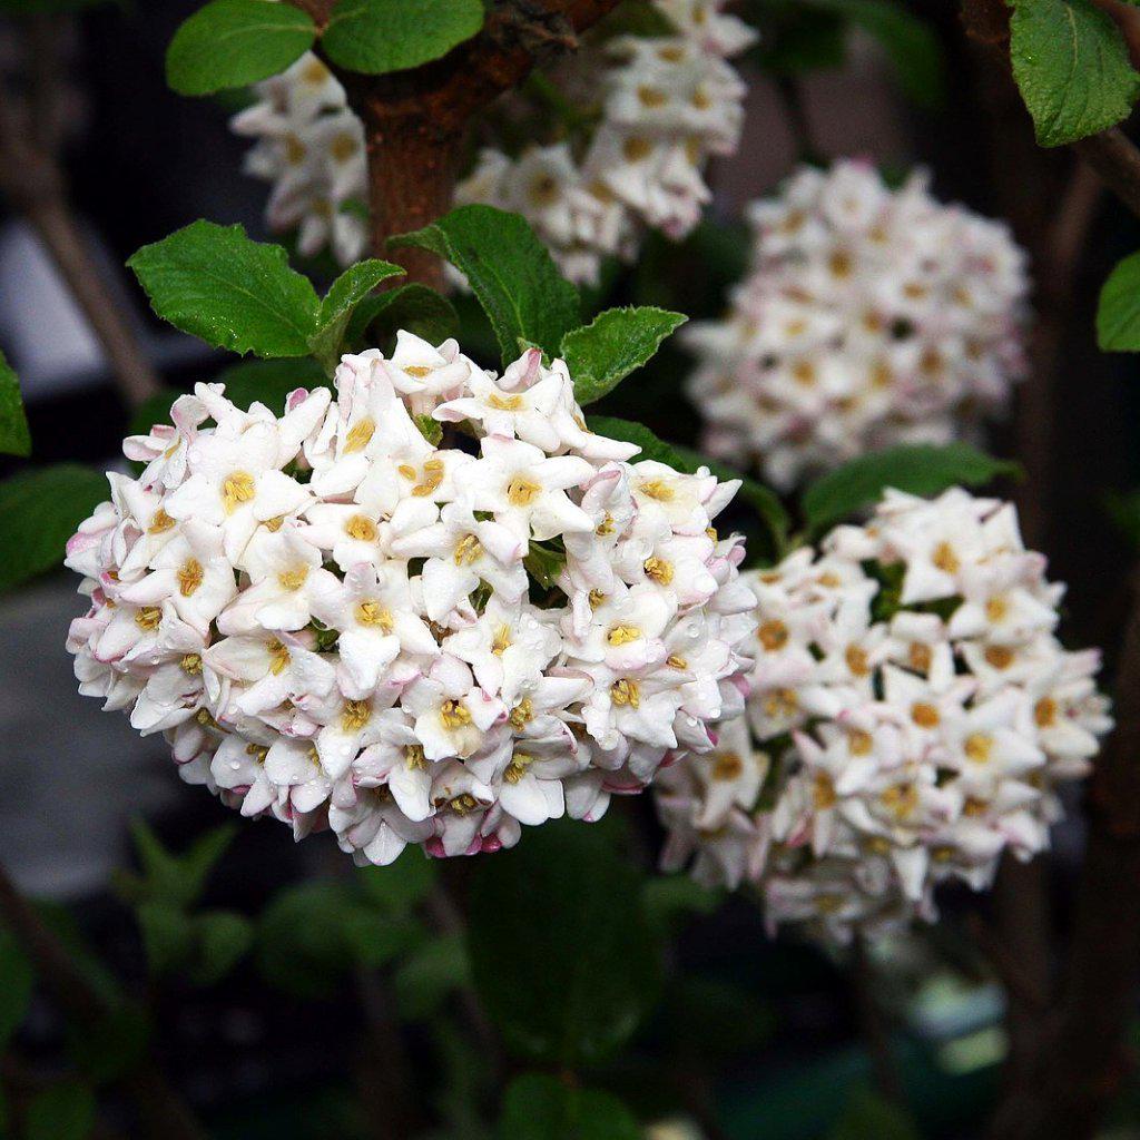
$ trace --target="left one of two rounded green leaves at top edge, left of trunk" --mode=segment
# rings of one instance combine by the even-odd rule
[[[211,0],[174,33],[166,82],[179,95],[213,95],[285,71],[317,38],[300,8],[271,0]]]

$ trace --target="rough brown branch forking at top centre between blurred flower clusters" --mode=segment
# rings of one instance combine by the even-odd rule
[[[618,2],[497,0],[482,31],[442,59],[390,75],[340,74],[365,124],[372,249],[402,264],[405,280],[442,285],[434,254],[386,254],[385,243],[447,212],[472,116],[536,65],[577,47],[577,35]],[[327,19],[326,0],[303,0],[302,7],[318,23]]]

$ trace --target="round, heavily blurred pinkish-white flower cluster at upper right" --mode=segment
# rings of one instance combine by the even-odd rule
[[[873,166],[805,168],[754,203],[728,315],[685,333],[711,454],[781,488],[899,442],[947,442],[1024,370],[1026,259],[1008,227],[898,190]]]

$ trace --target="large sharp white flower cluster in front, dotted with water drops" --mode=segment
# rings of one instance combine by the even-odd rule
[[[68,544],[80,691],[184,779],[360,862],[462,855],[598,819],[741,714],[739,484],[629,462],[538,350],[496,378],[401,332],[336,386],[278,418],[198,384]],[[454,424],[470,449],[425,438]]]

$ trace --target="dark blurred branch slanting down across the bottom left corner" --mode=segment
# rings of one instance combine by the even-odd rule
[[[18,939],[60,1010],[80,1026],[92,1027],[111,1013],[76,969],[59,939],[19,893],[0,864],[0,920]],[[158,1067],[144,1058],[123,1077],[142,1123],[140,1134],[163,1140],[205,1140],[205,1132]]]

